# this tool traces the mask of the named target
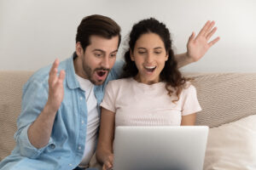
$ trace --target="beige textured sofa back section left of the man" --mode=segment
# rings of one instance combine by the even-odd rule
[[[0,71],[0,161],[15,147],[22,87],[32,71]]]

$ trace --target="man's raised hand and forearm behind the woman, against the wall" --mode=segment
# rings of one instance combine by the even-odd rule
[[[217,27],[213,27],[214,24],[214,21],[208,20],[196,37],[195,32],[192,32],[189,37],[189,42],[187,43],[187,53],[175,55],[178,68],[198,61],[207,53],[208,49],[211,48],[212,45],[218,42],[220,37],[216,37],[211,42],[208,42],[212,35],[217,31]]]

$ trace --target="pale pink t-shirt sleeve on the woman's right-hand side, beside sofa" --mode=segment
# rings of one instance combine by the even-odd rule
[[[193,85],[189,85],[189,88],[183,90],[182,116],[198,111],[201,111],[201,106],[197,99],[196,89]]]

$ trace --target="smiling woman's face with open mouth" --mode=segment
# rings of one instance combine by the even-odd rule
[[[135,61],[138,74],[136,80],[146,84],[160,82],[168,55],[164,42],[155,33],[146,33],[137,39],[131,60]]]

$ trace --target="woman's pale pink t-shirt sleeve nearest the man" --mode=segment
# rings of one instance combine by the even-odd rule
[[[116,93],[114,93],[113,89],[114,87],[113,81],[108,82],[108,85],[105,89],[104,98],[102,99],[101,106],[108,111],[115,112],[115,100],[116,100]]]

